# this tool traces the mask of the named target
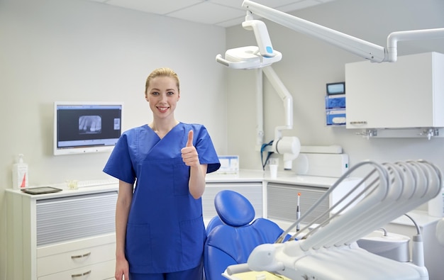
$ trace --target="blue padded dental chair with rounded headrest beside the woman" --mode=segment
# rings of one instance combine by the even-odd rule
[[[232,264],[245,264],[257,245],[273,243],[284,230],[265,218],[255,218],[255,209],[235,191],[218,192],[214,198],[218,213],[207,226],[204,247],[206,280],[226,280],[223,271]],[[287,237],[290,237],[288,235]]]

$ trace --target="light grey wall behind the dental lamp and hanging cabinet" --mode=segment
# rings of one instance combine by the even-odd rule
[[[336,0],[292,14],[385,47],[387,35],[394,31],[443,28],[443,11],[441,0]],[[355,135],[357,130],[327,127],[326,83],[343,82],[345,63],[363,59],[277,23],[265,23],[274,49],[283,55],[273,68],[294,100],[294,129],[285,132],[286,135],[297,136],[302,145],[341,145],[350,157],[350,164],[364,159],[394,162],[421,158],[444,167],[443,138],[367,140]],[[254,36],[240,26],[228,28],[227,45],[228,48],[255,45]],[[444,39],[400,42],[398,50],[399,55],[444,52]],[[241,168],[260,169],[260,153],[255,150],[254,72],[229,69],[227,87],[228,151],[240,155]],[[421,98],[421,92],[417,98]],[[414,100],[399,100],[399,106],[404,102]],[[274,138],[274,127],[284,124],[284,115],[282,101],[267,82],[264,103],[265,142],[268,142]]]

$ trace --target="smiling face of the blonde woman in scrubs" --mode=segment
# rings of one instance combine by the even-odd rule
[[[172,77],[155,77],[150,81],[145,99],[150,103],[155,117],[174,118],[174,109],[180,98],[176,83]]]

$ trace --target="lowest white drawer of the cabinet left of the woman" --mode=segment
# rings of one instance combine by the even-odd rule
[[[108,261],[38,277],[38,280],[103,280],[113,279],[116,262]]]

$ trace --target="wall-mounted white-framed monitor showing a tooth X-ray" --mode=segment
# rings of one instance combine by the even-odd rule
[[[122,133],[120,102],[54,103],[54,155],[106,152]]]

